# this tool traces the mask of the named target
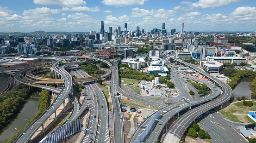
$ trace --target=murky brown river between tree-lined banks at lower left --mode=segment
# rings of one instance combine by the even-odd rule
[[[0,143],[6,142],[15,135],[15,128],[17,131],[23,127],[24,124],[31,120],[35,114],[37,114],[37,101],[39,99],[39,92],[34,91],[30,94],[30,98],[24,104],[23,109],[16,116],[15,120],[12,120],[3,130],[0,131]],[[27,119],[27,120],[25,120]]]

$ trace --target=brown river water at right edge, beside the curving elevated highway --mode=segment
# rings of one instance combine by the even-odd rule
[[[253,91],[253,87],[251,87],[253,80],[254,78],[251,77],[246,77],[240,80],[236,88],[233,90],[232,97],[237,98],[245,96],[250,99],[251,92]]]

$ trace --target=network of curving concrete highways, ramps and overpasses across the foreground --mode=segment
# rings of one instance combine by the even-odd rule
[[[131,100],[140,102],[149,106],[153,107],[160,107],[161,110],[161,116],[159,117],[160,121],[155,121],[154,126],[151,128],[150,133],[147,135],[147,137],[144,138],[144,143],[153,143],[157,140],[159,137],[162,129],[164,126],[168,123],[168,121],[175,117],[179,117],[179,113],[182,110],[189,110],[185,114],[181,115],[178,120],[176,120],[171,127],[168,129],[168,133],[165,135],[163,142],[164,143],[179,143],[181,140],[181,137],[183,136],[184,132],[187,130],[187,127],[198,117],[201,117],[201,114],[204,114],[208,110],[219,106],[223,103],[225,103],[229,98],[231,97],[232,90],[229,86],[227,86],[225,83],[221,82],[219,79],[212,77],[210,74],[206,74],[202,69],[198,68],[197,66],[189,63],[185,63],[183,61],[180,61],[179,59],[176,59],[175,57],[171,55],[167,55],[168,57],[173,58],[174,60],[181,62],[183,64],[187,64],[191,68],[197,70],[201,74],[206,75],[209,79],[212,81],[218,83],[222,91],[219,90],[218,87],[213,86],[212,84],[209,84],[209,82],[205,82],[207,86],[211,89],[211,93],[204,96],[204,97],[198,97],[193,98],[190,97],[190,95],[187,93],[187,89],[192,89],[195,93],[196,90],[194,87],[190,84],[187,84],[186,80],[184,80],[182,77],[184,77],[183,74],[178,74],[175,73],[175,70],[173,69],[171,71],[172,78],[174,80],[175,86],[177,89],[179,89],[179,94],[181,96],[172,98],[172,101],[176,101],[177,103],[173,103],[171,105],[166,105],[163,104],[162,101],[158,100],[153,100],[147,97],[142,97],[134,92],[129,92],[129,88],[123,89],[122,86],[119,86],[119,75],[118,75],[118,67],[117,67],[117,59],[113,60],[113,66],[109,62],[95,58],[95,60],[100,60],[102,62],[106,62],[111,70],[106,70],[106,74],[101,75],[100,77],[106,77],[110,73],[112,74],[111,76],[111,84],[110,84],[110,95],[111,95],[111,100],[112,100],[112,109],[113,109],[113,114],[114,114],[114,137],[113,137],[113,142],[114,143],[124,143],[124,129],[123,129],[123,118],[122,118],[122,112],[121,112],[121,107],[120,107],[120,101],[118,93],[121,94],[124,97],[129,97]],[[62,57],[61,57],[62,58]],[[66,57],[64,57],[66,58]],[[78,57],[80,58],[80,57]],[[88,58],[88,57],[86,57]],[[103,92],[100,90],[96,84],[90,84],[86,85],[87,89],[87,98],[84,98],[84,102],[79,105],[77,99],[72,95],[72,77],[65,70],[65,67],[68,65],[76,64],[76,63],[70,63],[63,65],[61,67],[57,66],[58,63],[62,62],[62,59],[60,58],[52,58],[52,57],[47,57],[46,59],[51,59],[53,60],[53,64],[51,65],[51,69],[53,72],[58,73],[61,75],[62,79],[54,79],[54,80],[48,80],[48,83],[51,83],[52,81],[57,83],[64,83],[62,90],[57,89],[57,88],[52,88],[49,86],[44,86],[44,85],[39,85],[37,84],[37,80],[31,80],[34,77],[33,74],[31,74],[31,71],[33,70],[32,68],[28,69],[21,69],[18,71],[14,78],[16,81],[19,81],[20,83],[27,84],[29,86],[34,86],[34,87],[39,87],[42,89],[50,90],[55,93],[59,93],[59,96],[55,99],[55,101],[50,105],[50,107],[42,114],[36,121],[34,121],[30,126],[28,126],[24,132],[29,133],[30,135],[33,135],[37,129],[42,126],[42,124],[52,115],[55,113],[56,109],[63,103],[64,99],[66,97],[71,98],[71,101],[73,103],[73,111],[72,114],[70,115],[69,119],[75,120],[79,118],[79,116],[82,114],[82,112],[88,107],[90,109],[90,117],[88,120],[87,127],[89,128],[88,131],[85,132],[84,139],[82,143],[88,143],[90,139],[93,139],[94,143],[109,143],[110,142],[110,134],[109,134],[109,129],[108,129],[108,109],[107,109],[107,104],[106,104],[106,98],[104,97]],[[77,61],[78,62],[78,61]],[[167,64],[169,67],[170,65]],[[57,68],[59,67],[59,68]],[[39,67],[37,67],[39,68]],[[30,79],[25,78],[23,76],[23,73],[25,71],[25,74],[30,77]],[[74,74],[80,79],[76,81],[94,81],[95,78],[90,78],[85,74],[83,71],[74,71]],[[36,77],[37,78],[37,77]],[[82,80],[81,80],[82,79]],[[30,81],[31,80],[31,81]],[[40,79],[40,81],[45,81],[45,79]],[[61,80],[61,82],[60,82]],[[74,82],[74,81],[73,81]],[[200,81],[203,83],[203,81]],[[44,84],[42,82],[41,84]],[[185,100],[184,99],[189,99]],[[72,100],[73,99],[73,100]],[[169,102],[171,98],[169,98],[167,101]],[[162,106],[162,107],[161,107]],[[191,108],[193,107],[194,108]],[[151,118],[152,116],[150,116]],[[218,116],[217,116],[218,117]],[[216,117],[216,118],[217,118]],[[130,143],[133,143],[133,141],[140,135],[140,133],[143,131],[144,127],[147,126],[147,123],[150,121],[150,118],[145,120],[136,130],[134,135],[131,138]],[[201,117],[202,118],[202,117]],[[106,120],[107,119],[107,120]],[[218,118],[219,121],[222,121],[223,119]],[[210,123],[207,118],[203,118],[204,122]],[[211,122],[212,125],[212,122]],[[227,123],[228,125],[228,123]],[[232,126],[232,125],[231,125]],[[204,126],[203,126],[204,127]],[[213,127],[216,127],[213,125]],[[206,126],[207,128],[207,126]],[[216,127],[217,128],[217,127]],[[234,128],[235,130],[235,128]],[[156,133],[156,134],[155,134]],[[233,132],[235,133],[235,132]],[[214,135],[213,135],[214,136]],[[244,142],[245,140],[242,137],[237,137],[237,138],[232,138],[230,137],[230,141],[234,140],[239,140]],[[29,140],[29,135],[20,135],[18,139],[15,141],[15,143],[26,143]],[[214,143],[219,143],[218,141],[227,141],[228,140],[215,140],[213,141]],[[220,142],[221,143],[221,142]]]

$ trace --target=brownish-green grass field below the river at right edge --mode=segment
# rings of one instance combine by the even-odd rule
[[[248,114],[248,111],[256,111],[256,102],[252,102],[254,106],[247,107],[244,106],[242,101],[238,103],[234,103],[226,107],[225,109],[222,109],[221,113],[227,117],[228,119],[231,119],[232,121],[238,121],[242,119],[242,122],[244,123],[256,123],[252,119],[250,119],[249,116],[245,115],[234,115],[233,113],[240,113],[240,114]]]

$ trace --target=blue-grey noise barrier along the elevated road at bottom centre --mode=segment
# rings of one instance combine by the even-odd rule
[[[151,127],[153,126],[155,119],[157,119],[160,116],[160,110],[156,112],[156,114],[152,117],[150,120],[148,126],[145,128],[145,130],[136,138],[136,140],[133,143],[141,143],[143,139],[147,136],[147,134],[150,132]]]

